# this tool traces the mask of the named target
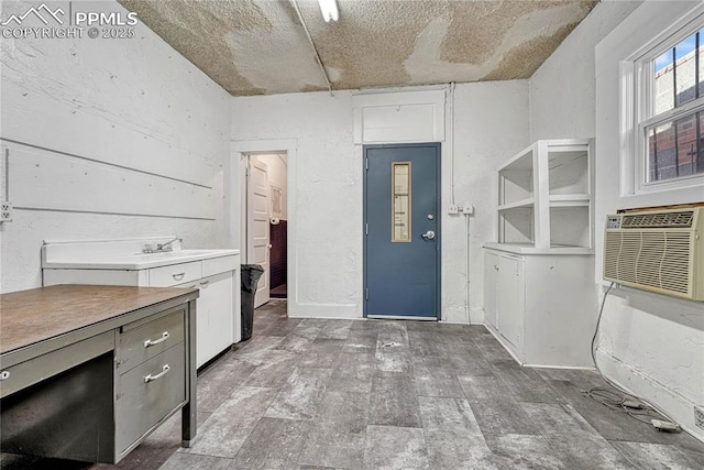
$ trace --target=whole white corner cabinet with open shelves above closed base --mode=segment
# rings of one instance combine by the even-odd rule
[[[498,168],[485,324],[521,364],[592,367],[593,141],[538,141]]]

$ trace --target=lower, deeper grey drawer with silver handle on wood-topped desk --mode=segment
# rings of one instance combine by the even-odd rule
[[[186,401],[185,343],[180,342],[118,379],[117,449],[122,452]],[[168,370],[165,371],[165,367]],[[157,376],[150,382],[147,376]],[[194,397],[195,398],[195,397]]]

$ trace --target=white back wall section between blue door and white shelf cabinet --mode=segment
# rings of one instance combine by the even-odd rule
[[[528,81],[462,84],[455,88],[454,201],[471,203],[469,293],[468,237],[464,216],[443,215],[443,315],[448,320],[484,323],[484,250],[497,241],[498,179],[496,168],[528,146]],[[448,142],[450,145],[451,142]],[[450,163],[443,162],[442,199],[451,199]]]

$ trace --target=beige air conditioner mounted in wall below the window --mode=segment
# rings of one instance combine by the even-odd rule
[[[704,300],[704,207],[606,216],[604,278]]]

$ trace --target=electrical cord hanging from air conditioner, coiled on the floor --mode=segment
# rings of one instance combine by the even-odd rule
[[[604,389],[594,386],[588,390],[582,391],[582,393],[586,394],[590,398],[594,400],[602,405],[612,408],[625,412],[628,416],[637,419],[641,423],[646,423],[649,425],[653,425],[658,430],[680,430],[680,426],[663,412],[658,409],[656,406],[650,403],[641,400],[635,395],[629,394],[620,386],[616,385],[614,382],[608,380],[602,373],[602,370],[598,368],[596,363],[596,337],[598,336],[598,328],[602,323],[602,315],[604,314],[604,305],[606,304],[606,297],[610,293],[614,287],[614,283],[612,282],[604,293],[604,297],[602,298],[602,305],[598,309],[598,317],[596,318],[596,328],[594,329],[594,336],[592,337],[592,361],[594,361],[594,367],[596,368],[596,372],[602,376],[604,382],[610,385],[614,390]],[[645,416],[645,418],[644,418]],[[661,425],[656,425],[656,423],[664,422]],[[664,427],[663,427],[664,425]]]

